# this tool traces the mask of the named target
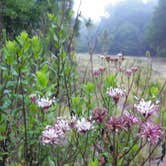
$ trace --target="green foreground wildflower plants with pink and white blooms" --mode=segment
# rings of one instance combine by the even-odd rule
[[[164,144],[160,111],[165,83],[156,88],[149,74],[144,83],[142,67],[126,70],[121,55],[102,56],[106,65],[81,82],[66,42],[73,36],[70,28],[52,14],[49,19],[46,39],[23,32],[5,43],[0,160],[57,166],[145,165],[153,160]],[[159,161],[163,154],[163,149],[157,154]]]

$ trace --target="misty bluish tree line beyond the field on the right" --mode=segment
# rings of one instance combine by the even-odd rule
[[[143,56],[148,50],[154,56],[166,56],[166,0],[125,0],[108,6],[109,17],[91,27],[82,25],[77,51],[87,52],[87,39],[96,32],[97,53]]]

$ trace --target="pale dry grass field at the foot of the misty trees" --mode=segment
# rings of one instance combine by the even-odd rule
[[[83,72],[85,69],[89,69],[90,61],[89,54],[77,54],[77,62],[79,66],[79,71]],[[107,63],[101,60],[100,54],[94,54],[93,56],[94,69],[100,66],[107,67]],[[148,59],[146,57],[125,57],[124,66],[146,66],[147,64],[152,63],[152,78],[165,80],[166,79],[166,58],[152,58]]]

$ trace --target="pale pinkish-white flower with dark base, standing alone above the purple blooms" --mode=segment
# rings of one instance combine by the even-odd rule
[[[114,100],[114,102],[117,104],[119,99],[123,96],[125,96],[126,92],[125,90],[119,89],[119,88],[108,88],[106,94],[109,97],[112,97],[112,99]]]

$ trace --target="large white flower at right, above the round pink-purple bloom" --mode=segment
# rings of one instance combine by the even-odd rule
[[[154,112],[158,111],[158,105],[153,104],[151,101],[144,101],[141,99],[138,104],[134,104],[136,110],[143,114],[145,118],[151,116]]]

